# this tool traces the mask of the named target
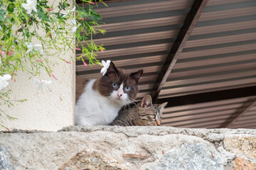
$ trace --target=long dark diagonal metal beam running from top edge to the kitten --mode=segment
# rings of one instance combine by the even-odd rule
[[[181,51],[183,50],[183,47],[186,45],[186,42],[191,35],[193,28],[196,26],[196,23],[198,22],[198,19],[200,18],[203,9],[206,7],[207,2],[208,0],[195,0],[193,2],[191,11],[188,12],[183,26],[178,33],[178,37],[171,48],[171,52],[169,52],[169,55],[166,58],[166,62],[161,69],[161,73],[156,79],[153,91],[151,92],[153,101],[156,101],[156,98],[159,96],[161,89],[163,88],[166,80],[168,79],[169,74],[174,67],[174,64],[176,63],[178,57],[181,54]]]

